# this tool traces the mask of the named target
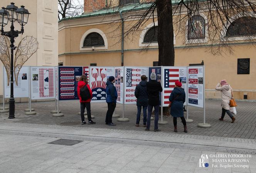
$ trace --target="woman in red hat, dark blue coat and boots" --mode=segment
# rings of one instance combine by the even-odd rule
[[[180,117],[184,125],[184,132],[187,133],[187,124],[184,118],[183,104],[186,101],[186,94],[184,88],[181,88],[182,83],[175,82],[175,88],[173,89],[169,101],[171,102],[170,114],[173,116],[174,131],[177,132],[177,117]]]

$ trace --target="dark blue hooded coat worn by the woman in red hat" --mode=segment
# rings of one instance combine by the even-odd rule
[[[173,88],[173,91],[169,97],[169,101],[172,102],[170,114],[173,117],[184,116],[183,104],[186,101],[186,93],[184,88]]]

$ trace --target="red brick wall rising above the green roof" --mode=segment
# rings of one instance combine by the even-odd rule
[[[93,12],[93,10],[99,10],[104,8],[106,0],[84,0],[84,13]]]

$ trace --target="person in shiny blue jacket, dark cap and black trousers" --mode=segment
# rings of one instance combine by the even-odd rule
[[[106,124],[110,126],[115,126],[114,123],[112,123],[112,116],[116,108],[116,99],[117,99],[117,91],[116,87],[114,86],[115,77],[111,76],[108,78],[108,81],[106,82],[106,102],[108,103],[108,111],[106,113]]]

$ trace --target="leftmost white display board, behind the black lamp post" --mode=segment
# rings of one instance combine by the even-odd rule
[[[9,86],[7,86],[7,74],[5,68],[3,68],[3,82],[4,82],[4,90],[5,98],[10,97],[10,87],[11,84],[9,83]],[[29,67],[22,67],[19,72],[18,76],[18,86],[16,86],[16,83],[13,83],[13,95],[16,97],[29,97]]]

